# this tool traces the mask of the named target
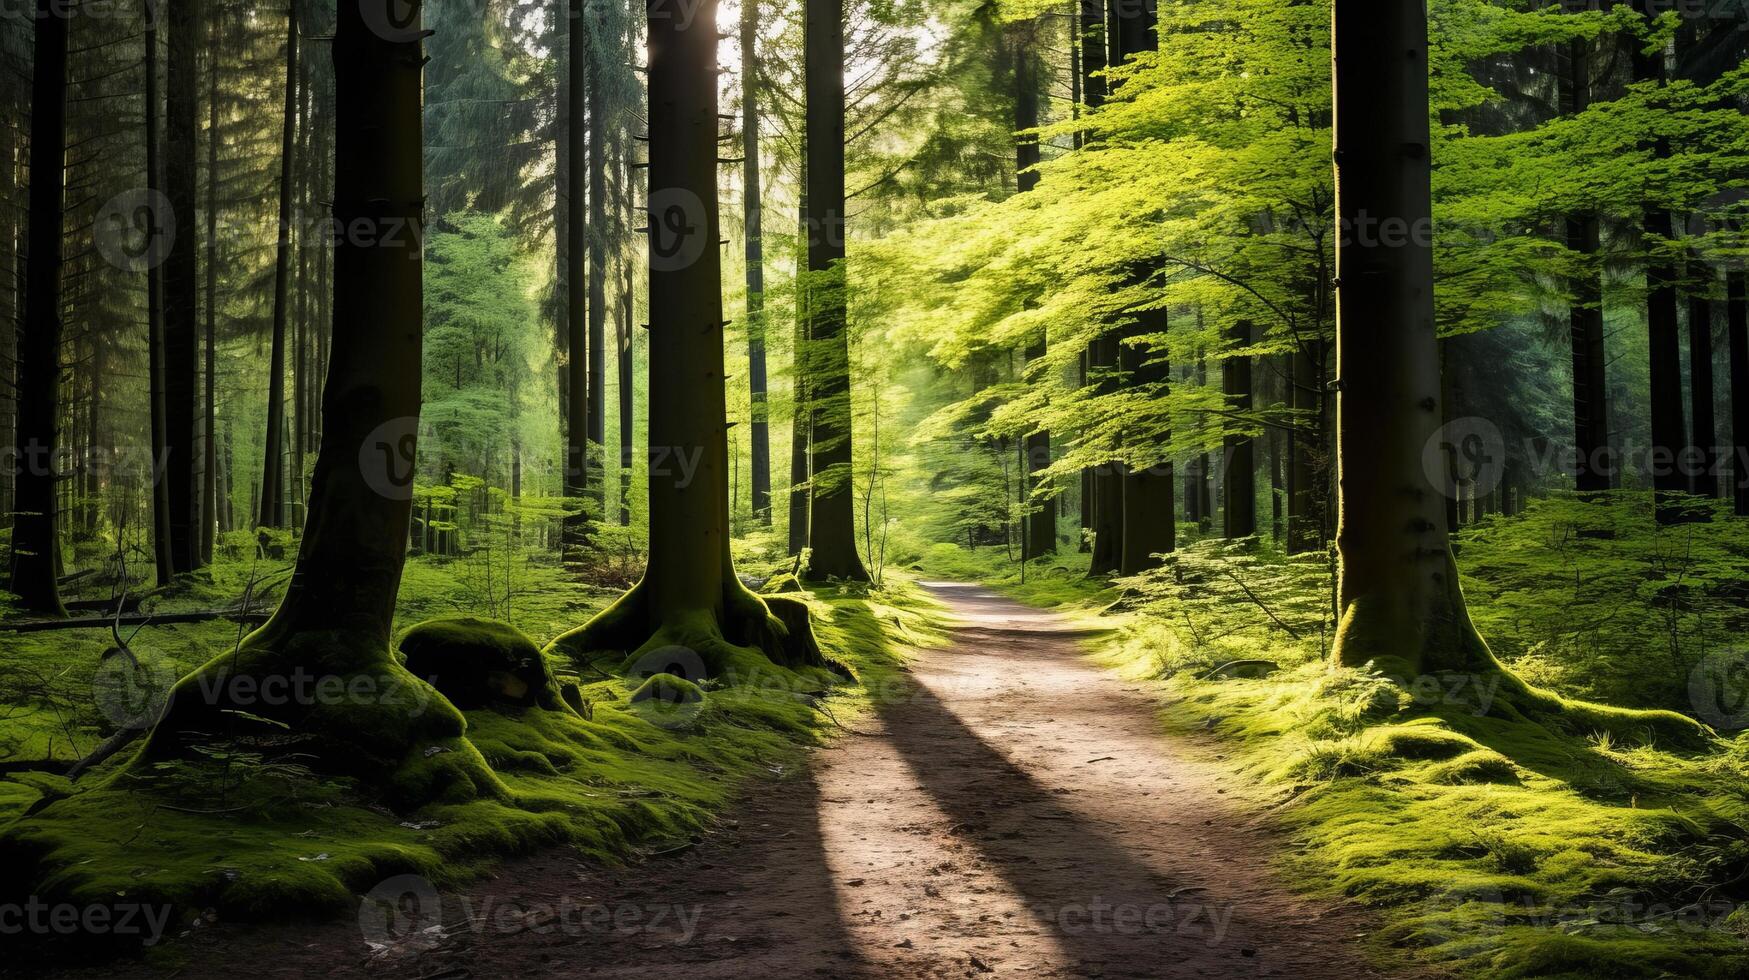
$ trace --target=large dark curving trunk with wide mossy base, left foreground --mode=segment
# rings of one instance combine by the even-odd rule
[[[332,362],[322,396],[327,425],[317,455],[310,522],[285,598],[273,618],[178,684],[136,765],[189,751],[213,732],[282,737],[254,714],[310,737],[311,765],[357,775],[390,805],[502,794],[463,719],[390,649],[395,592],[413,508],[420,411],[422,54],[418,7],[406,0],[341,4],[334,33],[334,219],[366,226],[371,243],[334,247]],[[378,698],[311,704],[304,696],[227,696],[292,677],[369,682]],[[297,690],[297,688],[294,688]],[[210,696],[208,691],[219,691]],[[390,691],[402,691],[392,695]],[[408,768],[418,768],[408,779]]]

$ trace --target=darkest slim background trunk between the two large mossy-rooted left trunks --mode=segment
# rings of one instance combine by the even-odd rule
[[[589,497],[589,212],[586,187],[589,184],[588,140],[588,75],[589,30],[584,23],[584,0],[570,0],[567,18],[567,75],[565,89],[570,117],[565,124],[565,495]],[[589,513],[565,522],[565,536],[572,546],[588,541]]]

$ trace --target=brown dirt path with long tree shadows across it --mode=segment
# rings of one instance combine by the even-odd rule
[[[960,625],[915,693],[707,845],[621,872],[512,861],[442,898],[442,938],[374,957],[355,922],[219,929],[178,976],[1380,975],[1364,919],[1275,880],[1270,833],[1174,752],[1149,691],[1055,616],[930,588]]]

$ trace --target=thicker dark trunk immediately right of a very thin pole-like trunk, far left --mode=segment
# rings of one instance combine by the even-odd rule
[[[201,0],[170,0],[164,70],[164,194],[175,228],[198,228]],[[164,480],[170,485],[170,555],[177,572],[199,562],[199,257],[198,236],[175,234],[164,262]]]

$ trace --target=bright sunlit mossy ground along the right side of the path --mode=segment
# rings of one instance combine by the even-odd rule
[[[1595,523],[1620,530],[1579,534]],[[950,546],[918,574],[1055,607],[1090,626],[1091,656],[1156,681],[1165,726],[1216,738],[1217,765],[1251,779],[1251,802],[1291,842],[1284,875],[1376,910],[1364,942],[1385,961],[1476,976],[1746,976],[1749,737],[1672,740],[1691,726],[1576,700],[1693,710],[1690,667],[1742,616],[1725,593],[1749,576],[1746,523],[1658,530],[1644,500],[1623,497],[1550,500],[1466,530],[1483,635],[1553,695],[1515,695],[1502,676],[1329,668],[1329,562],[1270,542],[1202,541],[1114,583],[1063,555],[1023,584],[1000,551]],[[1279,668],[1212,676],[1238,660]]]

